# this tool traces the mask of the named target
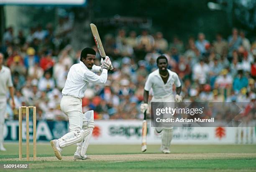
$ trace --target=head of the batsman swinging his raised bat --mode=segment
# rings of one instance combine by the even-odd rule
[[[92,66],[94,65],[96,52],[90,47],[85,47],[80,55],[80,61],[84,63],[84,65],[88,69],[92,69]]]

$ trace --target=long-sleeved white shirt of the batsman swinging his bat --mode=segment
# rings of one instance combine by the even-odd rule
[[[93,73],[93,71],[97,72],[98,68],[99,66],[93,66],[92,70],[89,70],[83,62],[72,65],[69,69],[62,95],[70,95],[82,99],[89,82],[105,84],[108,79],[108,70],[103,69],[99,76]]]

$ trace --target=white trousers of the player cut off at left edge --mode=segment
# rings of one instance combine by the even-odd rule
[[[3,147],[3,141],[4,141],[4,124],[5,124],[5,114],[6,114],[6,98],[0,99],[0,147]]]

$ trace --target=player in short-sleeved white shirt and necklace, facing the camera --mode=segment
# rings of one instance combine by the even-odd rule
[[[153,98],[151,102],[181,102],[182,97],[179,95],[181,92],[181,83],[177,73],[167,69],[167,58],[161,55],[156,60],[159,69],[148,75],[144,87],[143,101],[141,104],[141,112],[145,110],[149,113],[148,108],[148,92],[152,88]],[[172,93],[172,86],[176,86],[176,95]],[[155,132],[161,134],[162,145],[161,151],[163,153],[170,153],[169,147],[172,141],[173,127],[156,127]]]

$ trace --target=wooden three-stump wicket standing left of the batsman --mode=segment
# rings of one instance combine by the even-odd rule
[[[22,160],[22,109],[26,109],[26,145],[27,161],[29,161],[29,109],[33,108],[33,160],[36,160],[36,107],[20,106],[19,107],[19,160]]]

